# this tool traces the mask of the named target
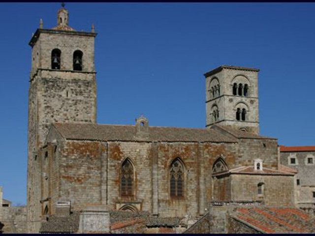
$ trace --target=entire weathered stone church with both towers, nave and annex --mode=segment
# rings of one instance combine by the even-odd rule
[[[206,127],[96,123],[95,37],[68,24],[30,41],[27,208],[39,232],[56,206],[107,206],[151,216],[202,216],[210,202],[294,205],[294,175],[278,140],[259,135],[258,69],[204,74]],[[200,114],[201,115],[201,114]],[[132,119],[132,118],[130,118]]]

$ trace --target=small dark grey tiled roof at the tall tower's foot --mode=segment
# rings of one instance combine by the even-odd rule
[[[49,216],[48,221],[43,222],[40,233],[76,233],[79,230],[80,213],[73,212],[68,216]]]

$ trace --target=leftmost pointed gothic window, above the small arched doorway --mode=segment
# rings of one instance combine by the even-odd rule
[[[133,166],[128,159],[123,162],[121,169],[121,195],[133,196]]]

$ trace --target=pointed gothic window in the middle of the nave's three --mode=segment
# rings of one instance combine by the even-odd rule
[[[170,168],[170,195],[171,197],[184,196],[184,166],[179,158],[176,158]]]

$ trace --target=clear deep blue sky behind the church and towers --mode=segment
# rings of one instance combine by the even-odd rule
[[[32,33],[60,3],[0,3],[0,186],[26,204]],[[69,25],[95,24],[97,122],[204,127],[203,73],[259,68],[262,135],[315,145],[315,3],[66,3]]]

